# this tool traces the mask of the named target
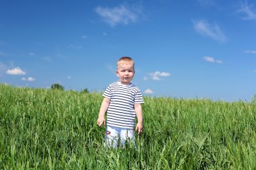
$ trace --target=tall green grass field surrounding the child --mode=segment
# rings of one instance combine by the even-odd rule
[[[0,84],[0,169],[256,169],[256,97],[144,97],[136,150],[104,146],[102,99]]]

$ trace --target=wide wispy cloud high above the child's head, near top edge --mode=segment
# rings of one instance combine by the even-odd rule
[[[129,9],[124,5],[119,7],[96,7],[96,13],[102,17],[104,22],[110,26],[116,26],[117,24],[130,24],[131,22],[137,22],[139,9]]]

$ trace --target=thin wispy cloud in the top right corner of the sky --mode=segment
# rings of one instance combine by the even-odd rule
[[[247,16],[242,18],[244,20],[256,19],[256,10],[255,9],[253,10],[252,8],[253,8],[253,4],[248,5],[247,1],[241,1],[241,7],[240,9],[237,9],[236,12],[245,13]]]

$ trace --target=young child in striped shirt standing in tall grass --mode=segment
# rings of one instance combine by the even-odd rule
[[[126,140],[131,140],[135,146],[134,133],[141,135],[143,118],[141,103],[144,103],[141,91],[131,80],[135,74],[135,63],[129,56],[123,56],[117,61],[117,77],[119,81],[108,85],[103,93],[104,99],[100,107],[97,124],[105,125],[106,113],[106,144],[116,148],[117,141],[125,146]],[[135,117],[137,125],[135,127]],[[134,131],[135,127],[135,131]]]

